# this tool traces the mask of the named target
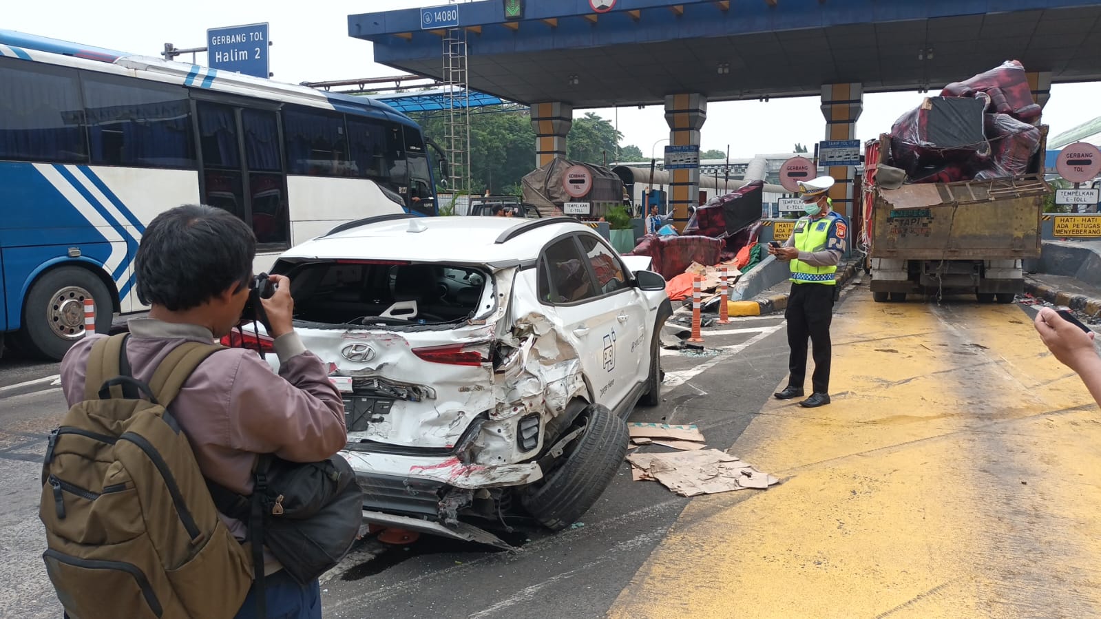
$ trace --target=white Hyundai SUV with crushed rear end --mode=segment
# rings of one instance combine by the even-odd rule
[[[570,218],[373,217],[273,272],[345,394],[368,522],[563,529],[614,477],[635,403],[661,399],[665,281]]]

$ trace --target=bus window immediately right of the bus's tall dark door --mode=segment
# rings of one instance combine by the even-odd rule
[[[355,176],[344,115],[288,106],[283,110],[283,139],[288,173]]]

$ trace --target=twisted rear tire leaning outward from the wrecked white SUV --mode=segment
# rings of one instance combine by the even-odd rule
[[[587,424],[542,481],[521,491],[521,503],[539,524],[562,531],[597,502],[626,456],[626,424],[607,408],[590,404],[578,415]]]

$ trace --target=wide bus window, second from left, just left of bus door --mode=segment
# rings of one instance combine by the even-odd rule
[[[94,165],[195,167],[187,90],[91,74],[80,82]]]

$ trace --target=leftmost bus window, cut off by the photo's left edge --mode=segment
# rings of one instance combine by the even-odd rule
[[[87,163],[76,72],[0,61],[0,159]]]

